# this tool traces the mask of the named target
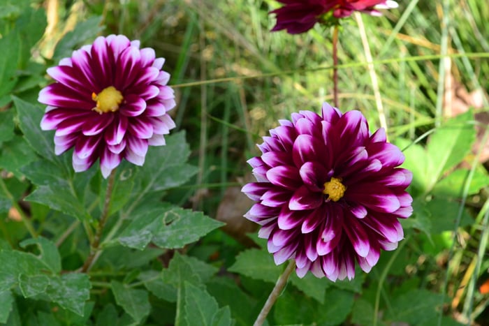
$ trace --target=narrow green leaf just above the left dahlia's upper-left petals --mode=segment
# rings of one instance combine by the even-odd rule
[[[56,49],[54,49],[53,59],[57,61],[64,57],[70,57],[73,49],[85,45],[87,41],[95,38],[103,30],[101,21],[101,16],[92,16],[83,22],[78,22],[73,31],[66,33],[59,40]]]

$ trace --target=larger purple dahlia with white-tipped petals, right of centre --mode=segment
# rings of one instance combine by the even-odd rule
[[[251,158],[257,182],[242,191],[256,200],[245,217],[261,225],[275,263],[295,259],[298,276],[352,279],[355,265],[370,269],[381,249],[404,237],[397,218],[413,212],[405,191],[404,155],[371,134],[360,111],[342,114],[324,103],[322,117],[310,111],[280,120]]]

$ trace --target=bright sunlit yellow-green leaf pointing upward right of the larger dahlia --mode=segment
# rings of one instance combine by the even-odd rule
[[[430,184],[428,189],[433,188],[440,177],[455,165],[460,163],[472,148],[476,131],[472,111],[459,114],[446,124],[437,128],[428,139],[426,151],[429,156]]]

